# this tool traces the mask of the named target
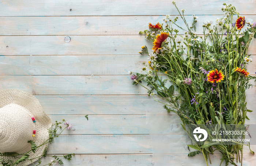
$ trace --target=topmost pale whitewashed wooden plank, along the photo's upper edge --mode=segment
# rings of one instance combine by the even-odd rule
[[[127,16],[178,14],[170,0],[1,0],[0,2],[1,16]],[[223,3],[235,5],[240,14],[251,15],[255,12],[256,2],[253,0],[176,1],[180,9],[186,9],[187,15],[223,15],[221,11]]]

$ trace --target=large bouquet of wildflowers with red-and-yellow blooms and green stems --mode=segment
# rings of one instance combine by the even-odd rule
[[[177,8],[175,1],[172,3]],[[149,23],[149,29],[140,32],[153,42],[153,48],[148,52],[143,46],[139,52],[148,55],[148,62],[144,63],[144,73],[131,72],[133,84],[158,96],[155,100],[162,102],[167,112],[176,113],[189,137],[189,124],[243,125],[248,119],[246,113],[251,112],[246,108],[245,90],[255,77],[246,71],[246,64],[252,62],[248,47],[256,38],[256,23],[246,22],[234,6],[223,5],[225,17],[200,25],[203,35],[195,32],[198,17],[193,15],[193,23],[188,25],[185,10],[178,8],[180,18],[167,15],[163,24]],[[180,27],[177,19],[182,19],[185,27]],[[184,35],[179,35],[179,30],[185,31]],[[202,153],[208,166],[210,154],[217,150],[222,154],[221,163],[236,165],[240,161],[242,165],[243,145],[206,141],[203,145],[188,145],[196,150],[189,156]]]

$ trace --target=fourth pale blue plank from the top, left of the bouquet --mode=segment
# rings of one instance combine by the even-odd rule
[[[129,75],[147,56],[0,56],[0,75]],[[92,63],[93,62],[93,63]]]

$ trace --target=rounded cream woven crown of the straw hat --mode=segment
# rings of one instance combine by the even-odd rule
[[[34,129],[30,114],[27,108],[14,103],[0,108],[1,152],[18,152],[29,146]]]

